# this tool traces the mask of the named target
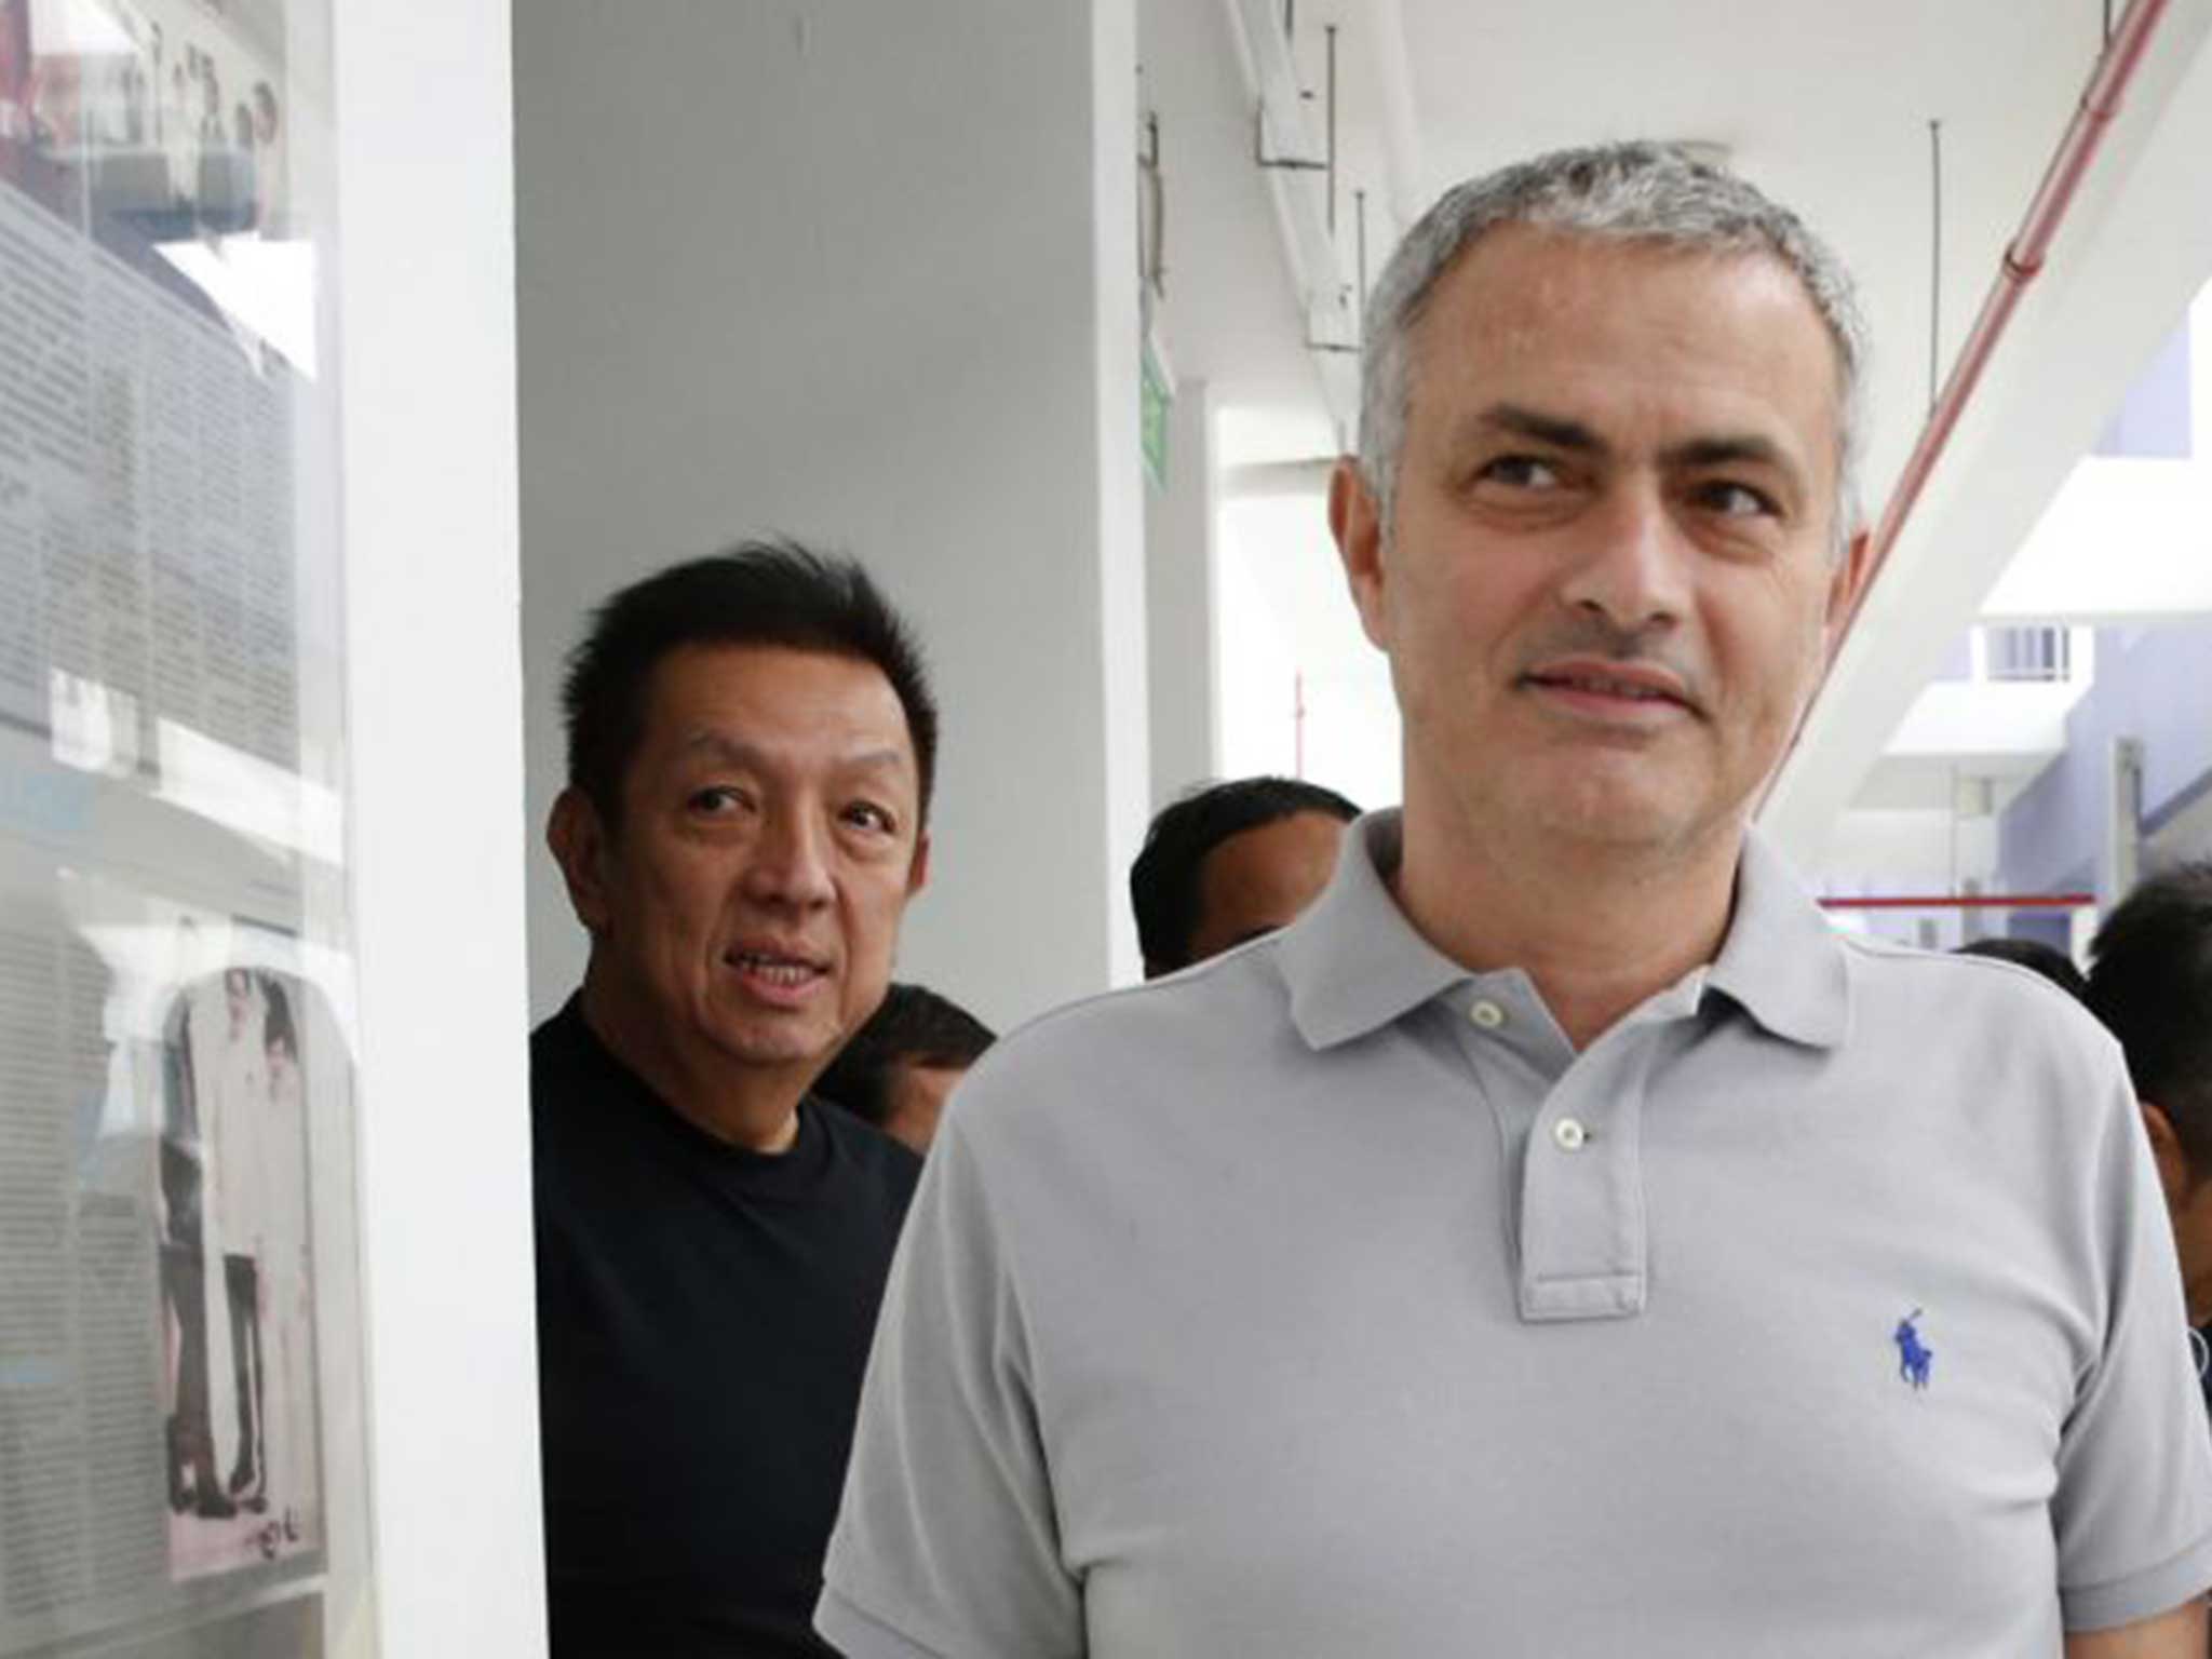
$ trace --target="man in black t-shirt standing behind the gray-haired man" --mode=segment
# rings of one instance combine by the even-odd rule
[[[564,712],[591,964],[531,1042],[553,1655],[823,1655],[920,1164],[807,1091],[922,887],[936,708],[858,566],[745,544],[602,606]]]

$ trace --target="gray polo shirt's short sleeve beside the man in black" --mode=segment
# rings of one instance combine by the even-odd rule
[[[860,1394],[814,1615],[849,1659],[1084,1652],[1022,1298],[969,1117],[949,1113],[931,1148]]]

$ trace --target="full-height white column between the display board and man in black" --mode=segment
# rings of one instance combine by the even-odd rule
[[[334,24],[378,1650],[509,1659],[544,1652],[509,13]]]

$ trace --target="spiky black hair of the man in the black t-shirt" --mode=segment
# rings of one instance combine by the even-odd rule
[[[653,670],[686,646],[781,646],[880,668],[907,714],[927,823],[938,706],[914,630],[852,560],[763,540],[633,582],[593,613],[591,630],[568,653],[568,785],[611,830],[622,823],[622,783],[644,739]]]

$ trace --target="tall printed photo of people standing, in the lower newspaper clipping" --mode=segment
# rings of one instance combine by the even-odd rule
[[[161,1040],[161,1327],[179,1579],[321,1546],[299,980],[230,967]]]

